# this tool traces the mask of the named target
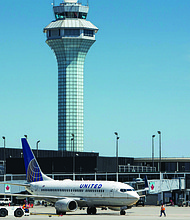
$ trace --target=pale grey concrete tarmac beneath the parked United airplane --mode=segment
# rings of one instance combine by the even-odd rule
[[[177,207],[177,206],[166,206],[167,216],[162,218],[167,219],[190,219],[190,207]],[[138,219],[138,220],[147,220],[147,219],[160,219],[160,207],[159,206],[145,206],[145,207],[133,207],[132,209],[127,210],[126,215],[120,215],[119,212],[111,210],[101,210],[97,209],[96,215],[87,215],[85,210],[77,210],[76,212],[67,212],[66,215],[58,216],[55,214],[54,207],[44,207],[44,206],[35,206],[30,208],[30,216],[23,216],[22,218],[16,218],[14,216],[6,216],[1,219],[76,219],[76,220],[94,220],[94,219],[103,219],[103,220],[115,220],[115,219]]]

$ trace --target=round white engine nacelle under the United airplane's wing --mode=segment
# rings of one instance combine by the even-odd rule
[[[78,204],[73,199],[61,199],[55,203],[55,208],[59,212],[74,212],[78,209]]]

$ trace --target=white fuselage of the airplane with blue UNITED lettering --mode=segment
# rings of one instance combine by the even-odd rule
[[[131,206],[139,200],[134,189],[124,183],[112,181],[72,181],[50,180],[33,182],[26,189],[35,195],[54,196],[57,200],[71,198],[79,207]],[[56,202],[55,199],[48,199]]]

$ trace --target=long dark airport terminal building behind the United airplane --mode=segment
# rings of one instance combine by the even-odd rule
[[[33,150],[42,171],[56,180],[110,180],[116,181],[116,157],[101,157],[99,153],[63,152],[49,150]],[[0,148],[0,181],[22,182],[26,180],[24,159],[21,149]],[[75,163],[73,163],[73,161]],[[136,189],[144,186],[143,179],[147,175],[149,194],[146,204],[168,203],[171,198],[177,204],[179,200],[190,200],[190,158],[162,158],[161,172],[158,171],[159,158],[118,158],[118,176],[120,182],[127,182]],[[3,165],[6,164],[6,169]],[[6,173],[6,176],[4,175]],[[141,180],[136,181],[136,180]],[[12,186],[12,193],[24,191],[23,187]],[[3,185],[0,185],[3,192]]]

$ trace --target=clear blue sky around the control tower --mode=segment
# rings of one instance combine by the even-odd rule
[[[43,33],[51,2],[1,4],[0,135],[8,147],[27,134],[33,148],[40,140],[39,148],[57,149],[57,64]],[[115,155],[117,131],[120,156],[149,157],[161,130],[164,157],[190,157],[190,1],[89,3],[99,32],[85,61],[84,150]]]

